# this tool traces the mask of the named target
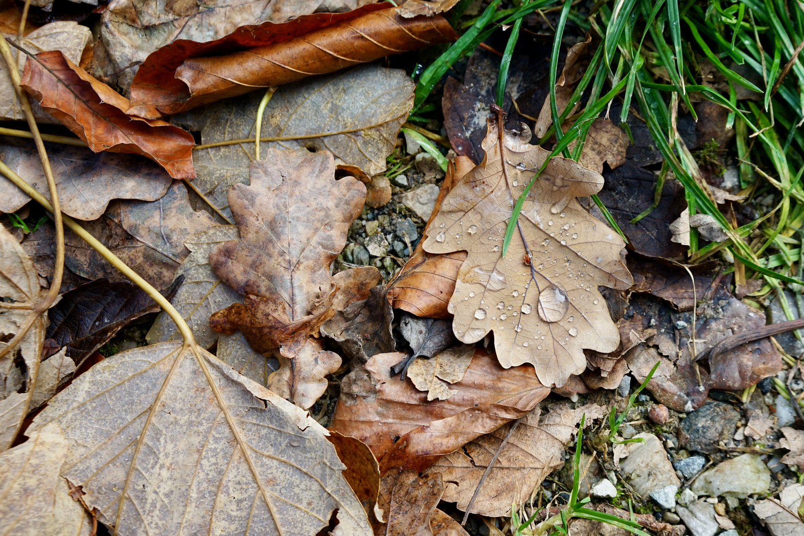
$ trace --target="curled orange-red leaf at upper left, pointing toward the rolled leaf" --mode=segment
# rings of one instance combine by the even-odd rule
[[[31,55],[21,85],[96,153],[142,154],[173,178],[195,177],[191,133],[165,121],[125,115],[128,99],[89,76],[60,51]]]

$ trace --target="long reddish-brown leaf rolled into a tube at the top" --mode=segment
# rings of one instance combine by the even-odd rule
[[[363,8],[360,13],[344,14],[338,20],[330,15],[326,26],[301,17],[288,23],[293,28],[290,30],[263,23],[248,29],[246,46],[238,43],[242,40],[239,35],[203,46],[181,43],[176,52],[195,48],[192,56],[184,51],[174,52],[162,68],[151,68],[155,59],[150,58],[142,65],[131,86],[133,104],[129,113],[155,118],[159,113],[183,112],[254,88],[287,84],[457,39],[441,15],[403,18],[396,8],[380,6],[385,9]],[[172,76],[166,76],[170,71]],[[154,80],[157,74],[162,76]],[[165,83],[166,80],[173,81]]]

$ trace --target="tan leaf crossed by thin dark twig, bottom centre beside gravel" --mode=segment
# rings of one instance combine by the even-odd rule
[[[511,504],[527,501],[544,477],[564,465],[564,448],[576,434],[581,416],[586,415],[589,426],[593,419],[605,417],[606,408],[586,404],[572,409],[572,405],[560,403],[545,415],[539,413],[536,407],[519,421],[486,477],[472,513],[498,518],[511,513]],[[504,424],[429,468],[428,473],[439,472],[447,482],[443,501],[457,502],[457,508],[466,511],[489,461],[510,430],[511,423]]]

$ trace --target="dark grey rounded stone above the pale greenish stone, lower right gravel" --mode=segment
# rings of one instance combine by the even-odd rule
[[[679,424],[679,443],[689,450],[714,454],[718,443],[734,436],[740,412],[722,402],[708,402]]]

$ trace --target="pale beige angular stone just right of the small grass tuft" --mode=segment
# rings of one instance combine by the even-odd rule
[[[634,491],[642,497],[648,497],[654,489],[681,485],[679,477],[675,476],[673,464],[667,459],[662,440],[649,433],[634,437],[644,439],[645,443],[629,444],[628,456],[620,461],[622,471]]]

